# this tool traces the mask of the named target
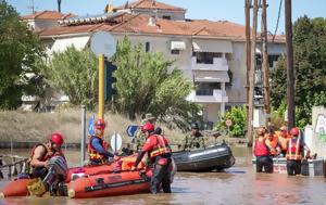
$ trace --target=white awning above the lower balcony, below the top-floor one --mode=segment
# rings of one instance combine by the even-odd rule
[[[193,72],[195,81],[229,82],[227,72]]]

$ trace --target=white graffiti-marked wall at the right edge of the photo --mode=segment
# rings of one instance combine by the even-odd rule
[[[318,157],[326,158],[326,107],[315,106],[312,111],[312,154],[317,153]]]

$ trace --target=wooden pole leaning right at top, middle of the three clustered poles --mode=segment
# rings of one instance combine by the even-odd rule
[[[253,91],[254,91],[254,72],[255,72],[255,44],[256,44],[256,18],[258,18],[258,0],[253,1],[253,15],[252,15],[252,39],[251,39],[251,66],[249,73],[249,104],[248,104],[248,145],[252,145],[253,136]]]

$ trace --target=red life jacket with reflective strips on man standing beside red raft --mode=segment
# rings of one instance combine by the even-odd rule
[[[153,134],[150,138],[155,138],[156,140],[153,150],[149,153],[150,161],[154,161],[156,156],[162,156],[163,158],[166,158],[165,155],[172,153],[165,137],[161,134]]]

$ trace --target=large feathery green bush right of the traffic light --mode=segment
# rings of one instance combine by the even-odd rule
[[[125,37],[118,42],[113,61],[117,65],[116,112],[131,119],[150,112],[161,119],[168,116],[177,124],[198,113],[199,107],[186,101],[192,82],[162,53],[145,52],[141,44],[133,46]]]

